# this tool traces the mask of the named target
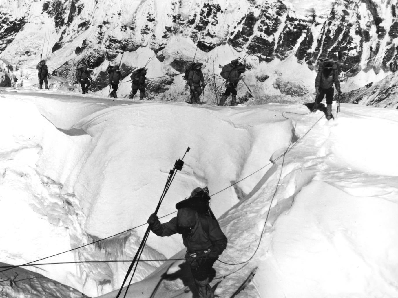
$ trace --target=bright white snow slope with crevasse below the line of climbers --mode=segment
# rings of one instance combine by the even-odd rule
[[[258,267],[238,297],[398,296],[396,110],[341,104],[328,122],[301,104],[190,106],[1,91],[0,221],[12,226],[1,233],[0,261],[25,263],[144,224],[189,146],[159,215],[196,186],[215,194],[243,179],[211,200],[228,237],[220,260],[250,260],[216,262],[216,294],[231,296]],[[132,259],[145,229],[46,261]],[[142,259],[181,258],[181,242],[151,234]],[[128,266],[29,269],[113,297]],[[142,262],[133,281],[127,297],[194,291],[183,261]]]

